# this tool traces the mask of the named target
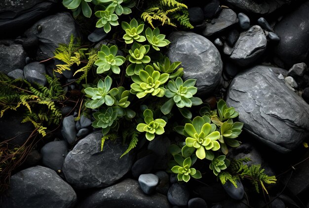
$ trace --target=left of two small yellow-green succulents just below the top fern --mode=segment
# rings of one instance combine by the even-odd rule
[[[132,43],[133,40],[138,42],[144,42],[146,40],[145,36],[140,35],[144,30],[144,24],[139,25],[135,18],[130,21],[130,24],[122,22],[121,27],[125,31],[123,39],[126,44]]]

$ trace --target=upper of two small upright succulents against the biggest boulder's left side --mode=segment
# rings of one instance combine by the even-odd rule
[[[224,100],[220,100],[217,104],[218,115],[214,115],[211,117],[211,121],[218,126],[223,124],[223,121],[235,118],[238,116],[238,112],[235,111],[234,107],[228,107]]]

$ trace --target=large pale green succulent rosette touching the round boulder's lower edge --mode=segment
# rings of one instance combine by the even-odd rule
[[[165,97],[170,99],[161,106],[162,113],[168,114],[174,104],[180,108],[202,104],[200,98],[193,97],[197,92],[197,87],[194,87],[195,82],[196,79],[188,79],[183,82],[181,77],[177,77],[175,81],[170,80],[164,93]]]

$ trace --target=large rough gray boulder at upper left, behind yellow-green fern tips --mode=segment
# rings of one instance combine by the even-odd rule
[[[38,25],[42,28],[40,33],[38,33]],[[37,60],[45,60],[54,56],[53,52],[59,43],[69,44],[71,35],[77,37],[78,33],[70,13],[62,12],[40,19],[25,32],[25,35],[36,35],[39,38]]]

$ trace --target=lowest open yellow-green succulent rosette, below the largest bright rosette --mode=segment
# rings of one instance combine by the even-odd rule
[[[177,174],[177,178],[179,181],[183,180],[185,182],[188,182],[191,177],[196,179],[202,177],[199,171],[197,171],[195,168],[191,168],[191,166],[193,165],[191,157],[184,159],[181,155],[176,154],[174,155],[174,159],[178,163],[178,165],[174,166],[171,171]]]

